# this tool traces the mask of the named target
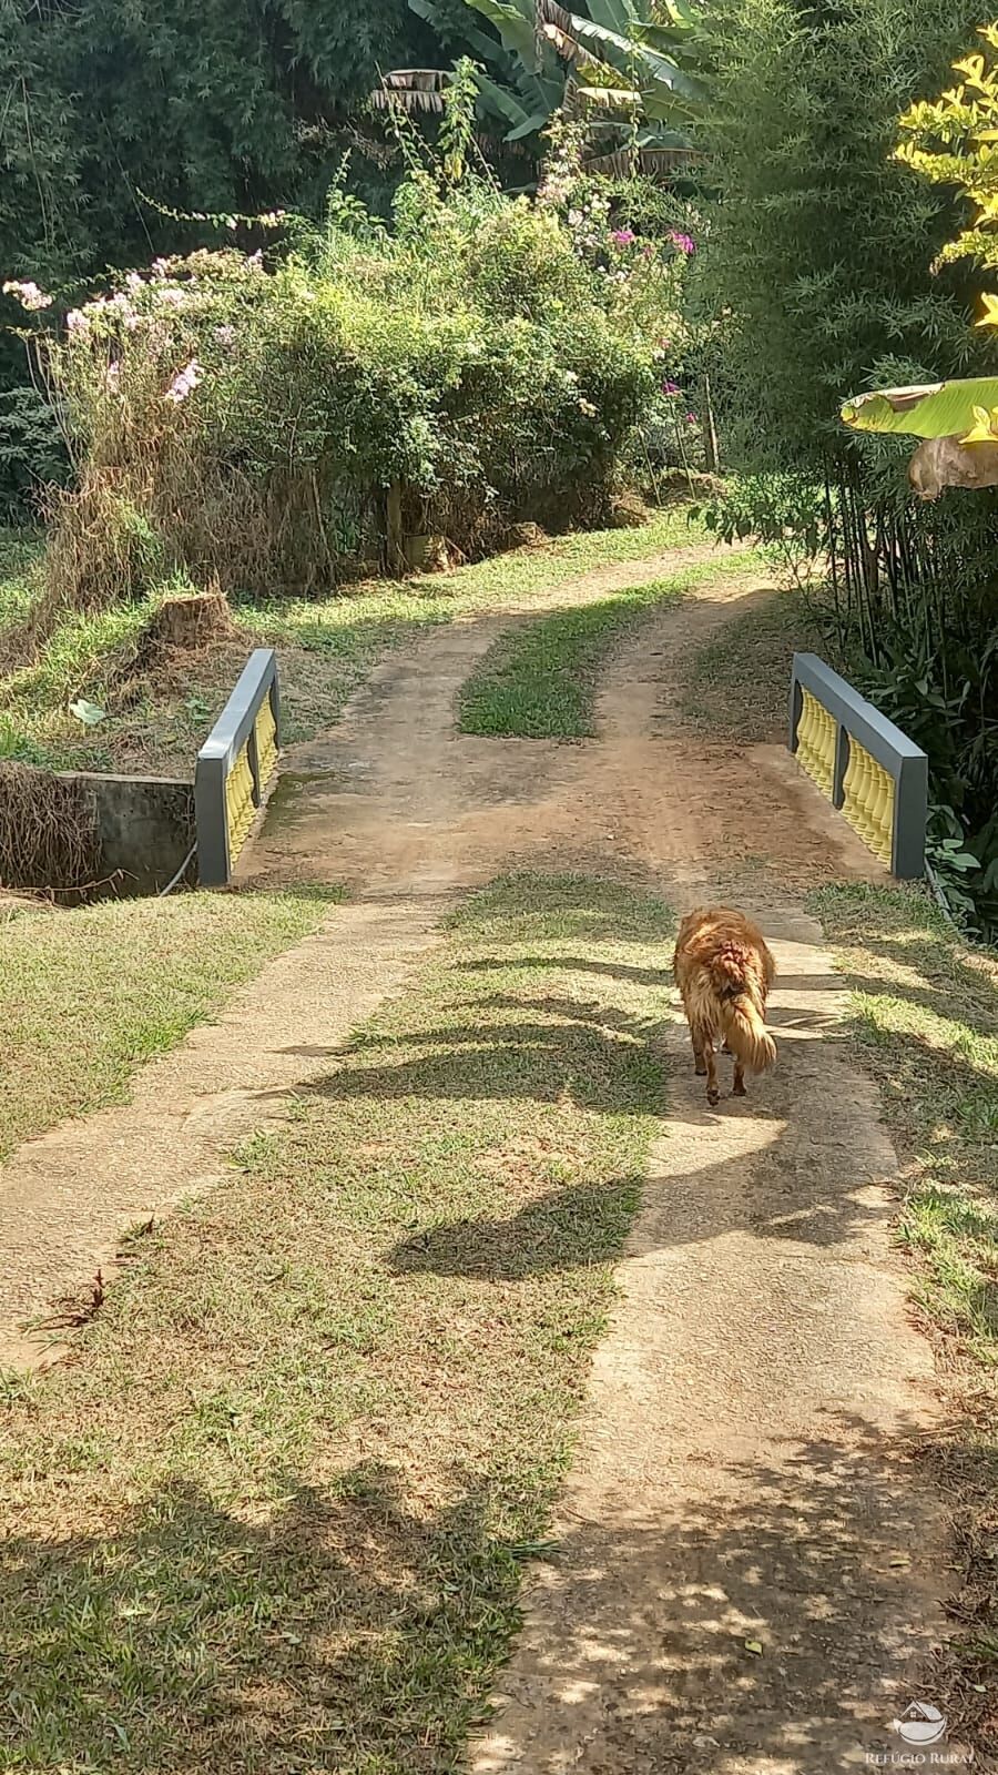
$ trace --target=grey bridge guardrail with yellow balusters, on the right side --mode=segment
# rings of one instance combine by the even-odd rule
[[[891,875],[925,873],[929,760],[817,653],[794,653],[788,744]]]

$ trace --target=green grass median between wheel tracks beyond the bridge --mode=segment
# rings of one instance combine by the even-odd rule
[[[703,579],[744,573],[751,559],[742,554],[705,561],[669,579],[508,628],[462,689],[462,733],[524,740],[593,737],[600,667],[611,648],[648,611],[678,600]]]

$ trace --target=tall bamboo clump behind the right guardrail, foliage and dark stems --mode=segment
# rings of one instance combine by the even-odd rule
[[[723,328],[728,462],[765,470],[735,518],[756,529],[765,511],[774,538],[810,525],[831,552],[829,639],[929,753],[931,850],[950,870],[978,859],[961,893],[996,928],[998,511],[987,492],[916,504],[904,438],[838,421],[863,389],[987,367],[975,279],[947,252],[954,195],[895,154],[899,115],[975,25],[977,0],[719,0],[696,266]]]

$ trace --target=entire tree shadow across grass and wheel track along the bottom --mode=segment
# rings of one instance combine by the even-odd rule
[[[597,1487],[579,1514],[570,1486],[549,1544],[543,1502],[501,1471],[451,1473],[432,1507],[385,1466],[288,1475],[256,1521],[178,1480],[108,1534],[14,1535],[11,1766],[446,1775],[487,1718],[538,1548],[494,1722],[510,1745],[540,1729],[591,1768],[728,1775],[739,1755],[824,1775],[897,1743],[888,1722],[915,1693],[945,1706],[948,1681],[906,1686],[947,1573],[904,1438],[829,1415],[762,1461],[701,1429],[693,1495]],[[984,1706],[964,1688],[954,1725],[961,1702]]]

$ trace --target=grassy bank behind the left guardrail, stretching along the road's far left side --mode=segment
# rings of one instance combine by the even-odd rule
[[[153,674],[128,669],[156,600],[107,616],[76,616],[51,635],[39,660],[0,680],[0,756],[50,769],[190,776],[194,756],[252,646],[277,646],[288,740],[311,738],[339,717],[350,694],[389,650],[421,628],[488,609],[504,598],[556,589],[581,573],[639,561],[666,548],[705,547],[707,532],[682,506],[639,529],[584,531],[536,548],[492,556],[455,573],[368,580],[334,596],[243,602],[233,644]],[[30,607],[37,541],[0,547],[0,630]],[[25,577],[27,575],[27,577]],[[96,728],[67,714],[78,696],[108,710]]]

